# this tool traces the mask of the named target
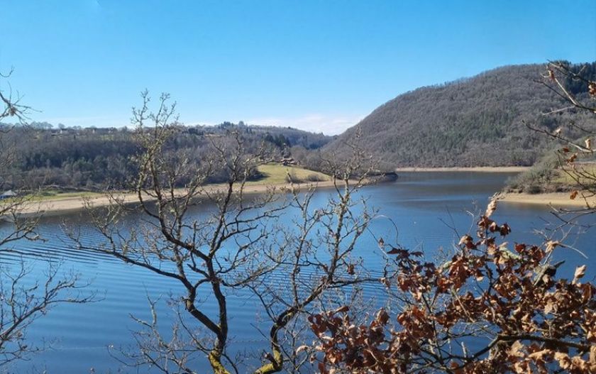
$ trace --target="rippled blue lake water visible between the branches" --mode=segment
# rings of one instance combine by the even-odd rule
[[[506,173],[473,172],[404,173],[397,182],[366,187],[361,194],[369,198],[371,206],[380,209],[381,214],[397,224],[402,246],[422,248],[426,256],[432,257],[441,248],[451,248],[460,235],[473,229],[471,214],[483,211],[488,197],[499,190],[509,176]],[[322,206],[329,194],[326,190],[316,192],[314,201]],[[204,212],[197,209],[196,214]],[[509,241],[539,243],[541,239],[534,230],[548,229],[552,226],[548,222],[556,223],[548,208],[519,204],[500,204],[494,218],[499,222],[507,221],[512,226]],[[133,344],[131,331],[138,328],[130,314],[148,318],[148,296],[153,299],[162,297],[158,312],[165,326],[168,325],[168,317],[172,317],[166,300],[170,295],[177,295],[177,284],[106,255],[73,250],[62,233],[63,219],[45,219],[42,222],[40,234],[45,241],[16,243],[13,246],[23,252],[33,277],[47,270],[48,260],[60,263],[62,270],[74,270],[82,275],[83,281],[91,282],[84,292],[98,292],[101,300],[92,304],[60,305],[35,321],[28,331],[28,338],[37,342],[43,339],[50,341],[51,348],[32,356],[31,361],[11,366],[9,372],[47,369],[48,373],[89,373],[90,368],[98,373],[114,372],[120,364],[111,358],[106,347]],[[129,223],[135,224],[136,219],[138,217],[130,217]],[[290,224],[289,218],[284,219]],[[67,220],[71,225],[82,228],[84,239],[89,243],[98,240],[89,230],[84,217],[71,216]],[[379,236],[394,237],[392,228],[387,219],[373,221],[372,230]],[[557,251],[558,258],[565,259],[560,271],[573,277],[575,265],[587,263],[587,279],[593,280],[596,275],[596,231],[589,230],[582,235],[571,233],[566,242],[581,248],[589,258],[586,260],[575,251]],[[360,255],[371,268],[375,268],[381,258],[374,251],[367,251],[371,246],[375,247],[373,238],[364,238]],[[0,263],[4,266],[14,265],[19,259],[16,255],[0,254]],[[283,281],[282,277],[279,279]],[[375,287],[368,287],[365,295],[375,297],[377,292]],[[238,295],[228,299],[228,307],[233,316],[230,329],[234,336],[232,350],[265,346],[265,339],[255,334],[253,327],[258,313],[255,302],[250,297]],[[209,301],[206,309],[213,310],[209,308]],[[130,368],[123,371],[136,372]]]

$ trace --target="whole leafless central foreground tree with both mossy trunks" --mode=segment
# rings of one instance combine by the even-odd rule
[[[90,209],[105,241],[93,248],[77,241],[81,248],[108,253],[180,284],[172,336],[165,339],[159,333],[155,301],[150,301],[153,317],[137,319],[143,326],[136,334],[139,349],[126,353],[125,361],[164,373],[195,373],[192,362],[202,354],[216,374],[248,370],[228,349],[233,336],[228,299],[254,292],[270,325],[262,331],[270,348],[259,355],[262,364],[254,373],[276,373],[285,365],[299,371],[308,358],[305,349],[299,349],[307,347],[306,336],[300,335],[306,331],[307,315],[331,292],[374,279],[351,256],[372,218],[366,209],[353,213],[367,160],[355,153],[351,168],[333,173],[336,198],[325,209],[311,206],[311,190],[291,188],[280,194],[267,189],[250,195],[246,186],[251,170],[269,159],[263,151],[248,153],[243,138],[231,133],[213,138],[209,152],[196,163],[168,146],[178,128],[169,97],[160,97],[156,111],[149,109],[147,92],[142,97],[132,120],[143,150],[131,188],[136,204],[114,195],[107,211]],[[226,182],[209,185],[211,175],[221,170]],[[194,204],[211,207],[209,214],[194,214]],[[143,214],[142,223],[123,227],[123,214],[136,209]],[[294,214],[296,227],[280,226],[282,214]],[[288,277],[282,289],[273,281],[279,275]],[[215,312],[204,307],[205,297],[213,300]]]

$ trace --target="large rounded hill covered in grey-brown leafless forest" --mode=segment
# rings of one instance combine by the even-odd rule
[[[573,69],[596,79],[596,62]],[[379,106],[324,153],[343,155],[344,145],[360,133],[361,145],[385,167],[532,165],[548,141],[524,123],[554,131],[570,121],[590,121],[573,110],[543,114],[567,106],[536,82],[545,72],[544,65],[500,67],[407,92]],[[579,82],[566,84],[574,94],[587,92]]]

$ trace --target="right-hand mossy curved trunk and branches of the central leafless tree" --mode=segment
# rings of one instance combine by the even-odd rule
[[[354,146],[352,157],[343,165],[330,160],[326,165],[333,177],[333,197],[325,207],[317,208],[312,203],[314,189],[301,193],[292,188],[291,207],[297,214],[284,230],[283,243],[275,248],[285,255],[268,255],[277,263],[277,272],[287,275],[287,282],[276,282],[268,274],[250,285],[271,321],[265,334],[270,341],[265,358],[270,364],[257,373],[280,371],[286,361],[287,372],[299,373],[312,348],[305,344],[311,336],[304,331],[302,319],[321,307],[352,305],[353,299],[346,300],[348,287],[355,297],[358,285],[378,283],[381,277],[378,272],[376,277],[368,273],[363,260],[353,255],[376,214],[368,209],[366,199],[355,197],[368,182],[374,164]]]

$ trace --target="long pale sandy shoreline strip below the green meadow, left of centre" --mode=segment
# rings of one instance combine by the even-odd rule
[[[295,184],[294,187],[297,187],[299,189],[308,189],[310,187],[330,188],[333,187],[333,182],[324,181],[314,183],[302,183]],[[219,192],[222,191],[223,188],[225,188],[225,186],[209,186],[208,192]],[[267,190],[272,188],[275,188],[277,192],[283,192],[285,189],[289,188],[289,184],[284,183],[279,185],[246,185],[244,189],[244,194],[263,194],[264,192],[267,192]],[[134,204],[138,202],[137,195],[133,193],[114,194],[114,196],[118,197],[118,199],[122,199],[122,201],[125,204]],[[111,201],[111,199],[107,196],[91,197],[87,200],[90,204],[92,204],[93,207],[106,207],[110,204]],[[84,208],[85,199],[83,197],[67,197],[62,199],[48,199],[43,200],[41,202],[28,202],[24,204],[23,209],[20,210],[20,214],[40,214],[43,216],[59,216],[62,214],[70,214],[77,211],[82,211]]]

